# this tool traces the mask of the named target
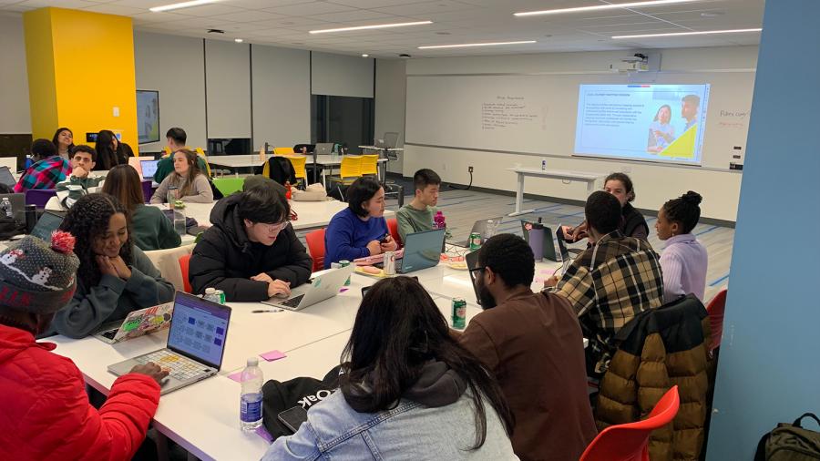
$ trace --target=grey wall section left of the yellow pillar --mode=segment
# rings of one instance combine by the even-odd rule
[[[0,133],[31,133],[22,15],[0,13],[0,63]]]

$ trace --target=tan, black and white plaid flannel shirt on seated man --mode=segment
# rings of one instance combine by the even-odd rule
[[[569,299],[601,357],[614,352],[623,325],[663,304],[661,263],[647,241],[614,231],[581,253],[550,291]]]

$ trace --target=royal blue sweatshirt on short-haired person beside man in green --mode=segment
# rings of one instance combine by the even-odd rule
[[[349,208],[339,211],[324,232],[324,269],[330,269],[331,262],[370,256],[367,244],[382,240],[386,233],[384,218],[361,220]]]

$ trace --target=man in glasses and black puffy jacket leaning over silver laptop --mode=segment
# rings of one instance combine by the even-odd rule
[[[264,185],[218,201],[190,257],[192,291],[212,287],[228,301],[253,302],[307,282],[313,261],[288,222],[290,209],[282,192]]]

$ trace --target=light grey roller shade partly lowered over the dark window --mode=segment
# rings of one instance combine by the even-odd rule
[[[311,53],[311,93],[373,97],[374,59]]]

